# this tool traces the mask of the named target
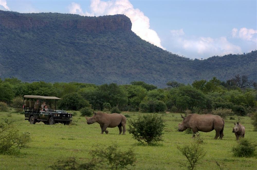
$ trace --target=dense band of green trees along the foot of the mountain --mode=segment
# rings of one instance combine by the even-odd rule
[[[210,113],[216,109],[231,109],[234,114],[244,116],[257,110],[256,87],[256,82],[249,81],[244,75],[236,75],[226,82],[216,77],[209,81],[195,80],[188,85],[170,81],[162,89],[142,81],[126,85],[43,81],[27,83],[12,77],[0,79],[0,101],[12,105],[15,99],[24,95],[41,95],[62,98],[58,101],[58,107],[67,110],[84,107],[110,110],[118,107],[122,111],[190,110],[194,113]],[[53,104],[53,101],[48,104]]]

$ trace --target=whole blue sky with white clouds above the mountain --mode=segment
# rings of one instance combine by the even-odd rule
[[[83,16],[125,14],[142,39],[188,58],[257,49],[257,1],[13,1],[1,10]]]

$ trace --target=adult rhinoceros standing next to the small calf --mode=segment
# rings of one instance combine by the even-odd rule
[[[222,139],[224,136],[223,130],[224,130],[224,120],[217,116],[217,115],[198,115],[198,114],[189,114],[187,117],[183,118],[183,122],[179,123],[179,129],[178,131],[182,132],[186,130],[187,128],[191,128],[194,135],[198,131],[201,132],[210,132],[215,130],[216,135],[214,139]]]

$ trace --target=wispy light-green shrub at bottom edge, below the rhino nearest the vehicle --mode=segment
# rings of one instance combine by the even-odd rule
[[[132,149],[121,151],[116,145],[108,146],[107,148],[96,149],[92,152],[94,158],[100,160],[110,166],[110,169],[127,169],[128,165],[133,166],[136,161],[135,153]],[[105,168],[106,169],[106,168]]]

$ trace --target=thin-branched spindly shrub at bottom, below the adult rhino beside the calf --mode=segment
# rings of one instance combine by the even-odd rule
[[[182,153],[182,155],[186,156],[189,164],[184,164],[181,162],[179,163],[190,170],[193,170],[195,166],[199,163],[199,160],[205,155],[203,148],[201,148],[199,144],[191,144],[184,147],[177,146],[177,148]]]

